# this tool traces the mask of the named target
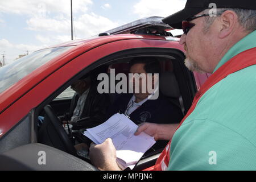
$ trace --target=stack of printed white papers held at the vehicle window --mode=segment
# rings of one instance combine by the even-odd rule
[[[87,129],[84,135],[101,144],[111,138],[117,150],[119,167],[133,169],[143,154],[155,144],[154,137],[146,133],[135,136],[138,126],[123,114],[114,114],[99,126]]]

